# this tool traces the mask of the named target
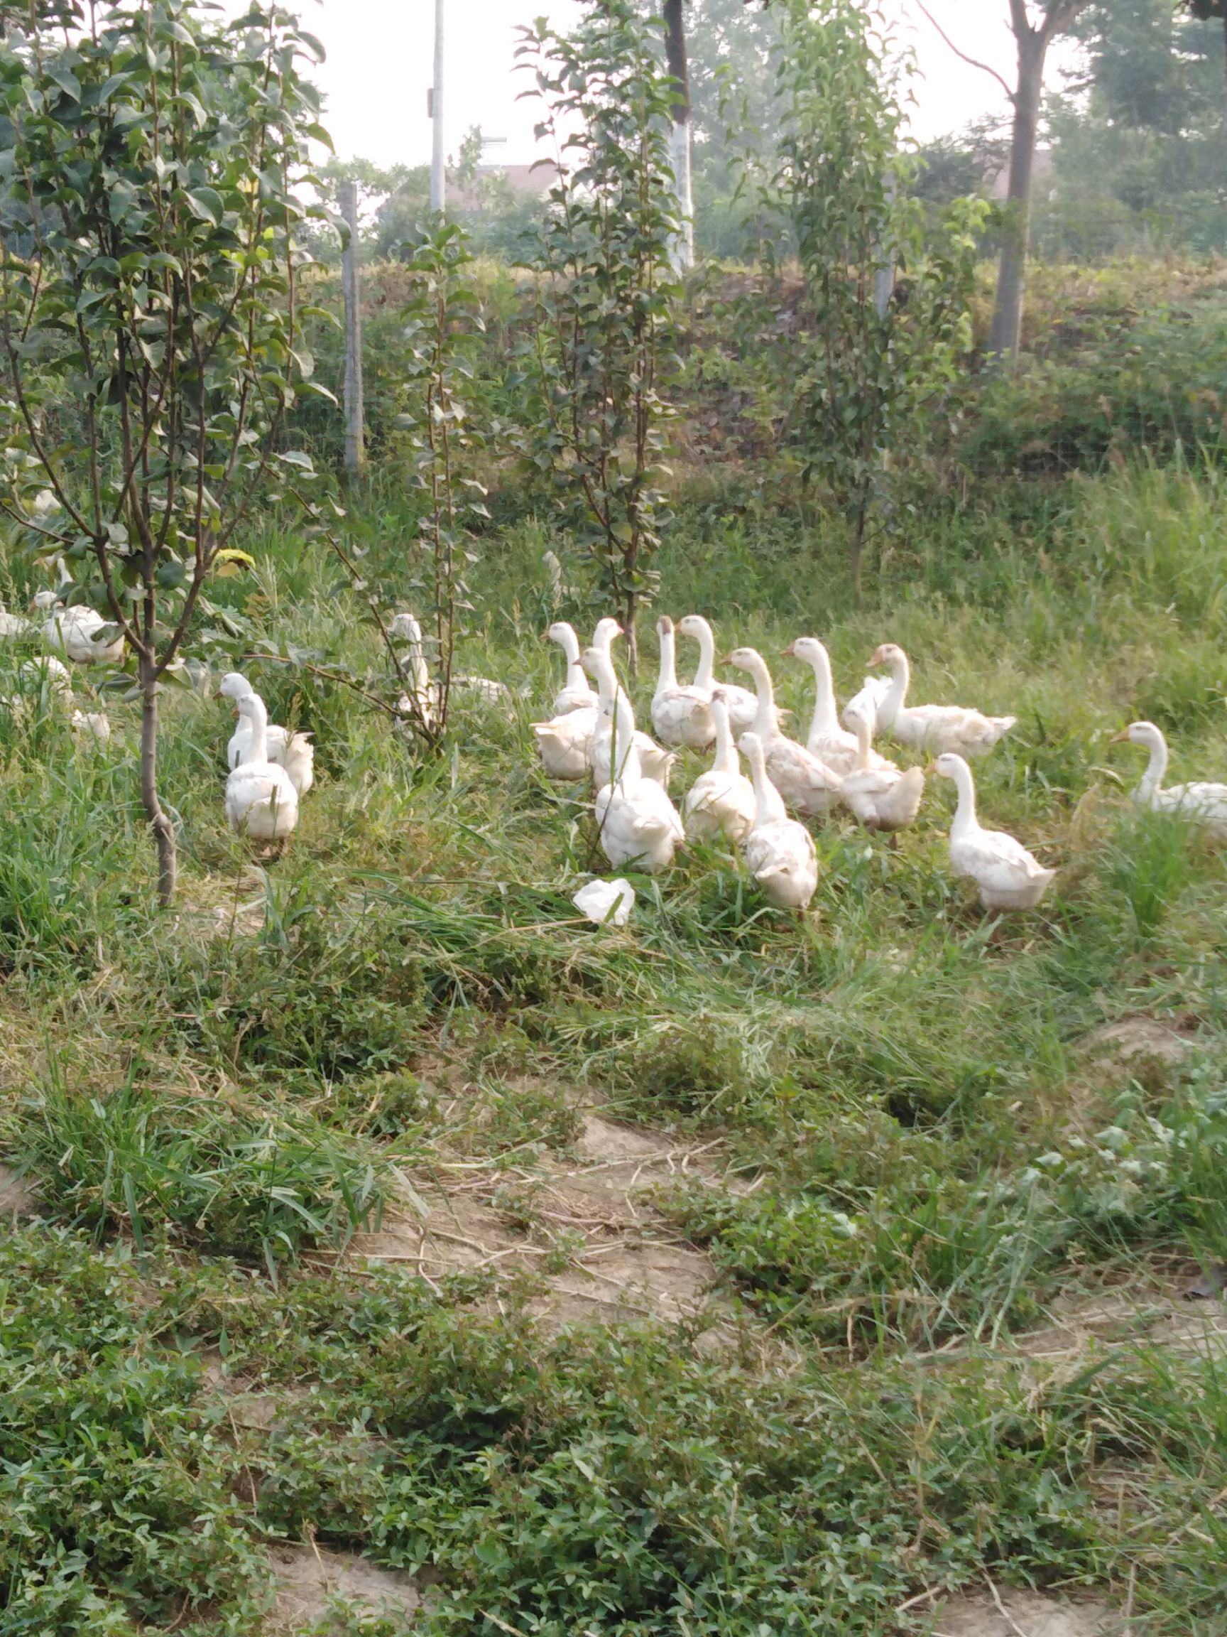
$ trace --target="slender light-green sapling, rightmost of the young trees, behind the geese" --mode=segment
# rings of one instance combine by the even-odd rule
[[[805,475],[844,514],[859,593],[887,473],[924,445],[972,345],[983,206],[960,200],[934,223],[911,195],[906,64],[875,0],[779,10],[784,134],[767,193],[789,211],[811,303],[795,435]]]

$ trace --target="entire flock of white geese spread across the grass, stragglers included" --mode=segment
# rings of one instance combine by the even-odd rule
[[[72,704],[75,665],[115,663],[123,645],[113,627],[88,607],[65,607],[56,593],[34,598],[34,622],[0,606],[0,637],[41,637],[46,653],[18,666],[23,686],[46,686],[57,706]],[[715,634],[707,619],[689,614],[656,622],[659,676],[651,699],[656,738],[635,722],[630,697],[614,666],[614,642],[623,635],[615,619],[602,619],[592,643],[581,653],[571,625],[550,625],[548,637],[566,658],[566,676],[553,701],[553,715],[535,722],[533,733],[545,771],[555,779],[592,779],[600,846],[615,869],[667,869],[687,838],[723,838],[741,850],[746,868],[764,895],[780,909],[805,909],[818,886],[818,858],[803,818],[825,817],[839,807],[870,830],[895,832],[916,822],[926,773],[952,781],[957,805],[949,832],[951,868],[975,882],[990,910],[1032,909],[1055,871],[1039,863],[1014,837],[985,828],[977,817],[975,781],[969,756],[983,756],[1014,725],[969,706],[908,702],[906,653],[883,643],[861,691],[838,709],[831,660],[816,637],[798,637],[785,656],[808,665],[815,706],[805,743],[784,733],[771,670],[754,648],[735,648],[726,665],[743,671],[753,688],[718,681]],[[389,634],[407,638],[402,674],[407,691],[402,717],[437,717],[440,684],[425,665],[422,632],[412,614],[399,614]],[[677,679],[677,637],[699,647],[694,681]],[[594,686],[596,684],[596,686]],[[458,676],[452,686],[486,704],[507,704],[502,683]],[[311,735],[268,722],[260,694],[237,671],[222,676],[219,694],[229,699],[237,727],[227,745],[229,776],[224,807],[231,827],[265,843],[283,843],[298,825],[299,799],[314,782]],[[409,697],[412,694],[412,699]],[[2,699],[13,715],[28,699]],[[72,710],[79,738],[110,740],[101,712]],[[910,751],[929,756],[926,768],[900,768],[874,748],[882,733]],[[1114,742],[1129,740],[1148,751],[1135,800],[1171,812],[1227,838],[1227,784],[1163,786],[1168,746],[1153,722],[1134,722]],[[681,810],[669,796],[669,776],[679,750],[712,751],[712,764],[694,781]],[[749,774],[743,771],[744,756]]]

